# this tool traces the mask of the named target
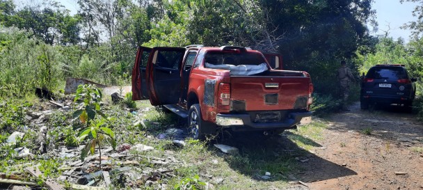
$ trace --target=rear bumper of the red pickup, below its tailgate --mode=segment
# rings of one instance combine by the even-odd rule
[[[312,116],[311,111],[288,113],[281,122],[253,122],[249,114],[221,114],[216,116],[216,125],[232,127],[234,131],[258,131],[271,129],[291,129],[300,124],[301,119]]]

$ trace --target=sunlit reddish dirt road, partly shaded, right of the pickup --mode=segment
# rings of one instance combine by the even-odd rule
[[[423,189],[422,122],[396,108],[350,109],[327,119],[301,180],[310,189]]]

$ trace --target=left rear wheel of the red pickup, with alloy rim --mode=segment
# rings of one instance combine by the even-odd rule
[[[202,133],[202,122],[200,104],[193,104],[188,111],[188,125],[189,134],[194,139],[205,139],[205,134]]]

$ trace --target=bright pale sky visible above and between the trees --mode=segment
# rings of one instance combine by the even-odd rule
[[[15,0],[22,3],[33,0]],[[70,10],[71,14],[77,13],[77,0],[57,0],[62,3],[65,8]],[[406,42],[409,40],[410,31],[399,29],[403,24],[413,21],[412,11],[417,3],[404,2],[399,3],[399,0],[374,0],[372,8],[376,9],[376,20],[379,24],[378,31],[374,35],[384,35],[385,31],[389,30],[389,34],[395,40],[399,37],[404,38]],[[388,27],[389,25],[389,27]],[[370,28],[371,29],[371,28]]]

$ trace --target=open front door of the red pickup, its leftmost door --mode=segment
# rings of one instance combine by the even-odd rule
[[[132,68],[132,100],[147,100],[147,61],[151,48],[138,47],[134,68]]]

